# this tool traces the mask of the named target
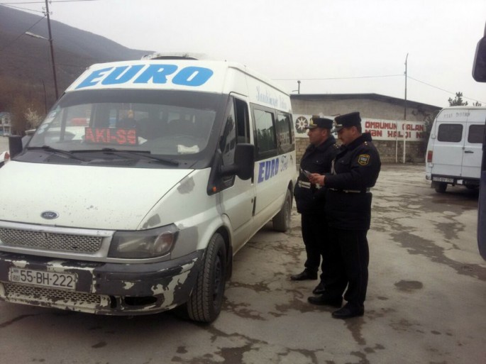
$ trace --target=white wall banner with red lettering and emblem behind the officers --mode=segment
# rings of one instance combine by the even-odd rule
[[[323,116],[331,118],[333,116]],[[307,129],[311,115],[294,114],[295,136],[297,138],[307,138]],[[377,118],[361,117],[361,128],[363,133],[370,133],[375,140],[399,140],[406,138],[411,141],[424,140],[425,123],[424,121],[397,121],[382,120]]]

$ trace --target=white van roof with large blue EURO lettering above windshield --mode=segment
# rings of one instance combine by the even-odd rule
[[[184,55],[156,55],[150,60],[98,63],[66,89],[158,89],[235,92],[250,102],[290,111],[289,94],[279,84],[237,62],[197,60]]]

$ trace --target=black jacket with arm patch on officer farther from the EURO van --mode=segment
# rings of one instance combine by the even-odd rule
[[[370,133],[361,134],[349,145],[341,145],[333,161],[332,175],[326,175],[324,181],[329,226],[345,230],[370,228],[370,187],[375,186],[380,168],[380,155]]]

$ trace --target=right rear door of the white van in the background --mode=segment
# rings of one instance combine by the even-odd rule
[[[485,132],[486,110],[470,109],[465,125],[462,177],[479,178],[482,157],[482,136]]]

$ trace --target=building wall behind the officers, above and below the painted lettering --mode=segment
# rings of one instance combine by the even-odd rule
[[[362,118],[379,118],[403,121],[404,100],[375,94],[360,95],[292,95],[294,114],[337,116],[359,111]],[[407,121],[429,121],[433,119],[438,106],[407,102]],[[382,162],[403,162],[403,140],[375,140]],[[405,142],[405,162],[424,162],[427,140]],[[297,160],[309,144],[307,138],[296,138]]]

